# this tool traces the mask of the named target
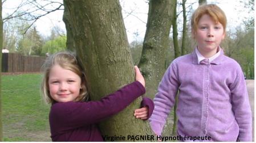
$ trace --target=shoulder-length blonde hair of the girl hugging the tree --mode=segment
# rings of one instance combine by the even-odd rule
[[[78,60],[76,60],[75,53],[58,52],[47,57],[46,61],[42,65],[43,80],[41,85],[41,92],[46,103],[52,104],[55,102],[55,100],[51,98],[48,85],[50,70],[54,65],[59,65],[63,69],[71,70],[72,72],[79,75],[81,78],[82,89],[80,89],[79,96],[75,99],[75,102],[88,100],[86,75],[82,72],[83,70],[78,63]]]

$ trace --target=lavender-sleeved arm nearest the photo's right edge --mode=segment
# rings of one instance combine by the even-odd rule
[[[246,89],[246,82],[241,68],[234,83],[230,86],[232,110],[239,125],[239,141],[252,141],[251,108]]]

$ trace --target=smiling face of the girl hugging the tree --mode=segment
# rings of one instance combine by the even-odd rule
[[[51,68],[48,85],[50,95],[56,102],[74,101],[82,89],[79,75],[59,65]]]

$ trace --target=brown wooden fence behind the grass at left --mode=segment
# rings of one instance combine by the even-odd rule
[[[2,72],[40,72],[45,56],[22,56],[17,53],[2,53]]]

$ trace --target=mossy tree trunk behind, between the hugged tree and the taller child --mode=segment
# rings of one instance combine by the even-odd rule
[[[170,50],[169,33],[173,19],[172,0],[149,1],[147,31],[143,42],[143,51],[139,62],[145,81],[146,95],[152,99],[155,97],[157,87],[165,73],[167,51]],[[168,56],[169,57],[169,56]],[[169,117],[168,117],[169,119]],[[163,136],[171,132],[169,122],[166,122]]]

